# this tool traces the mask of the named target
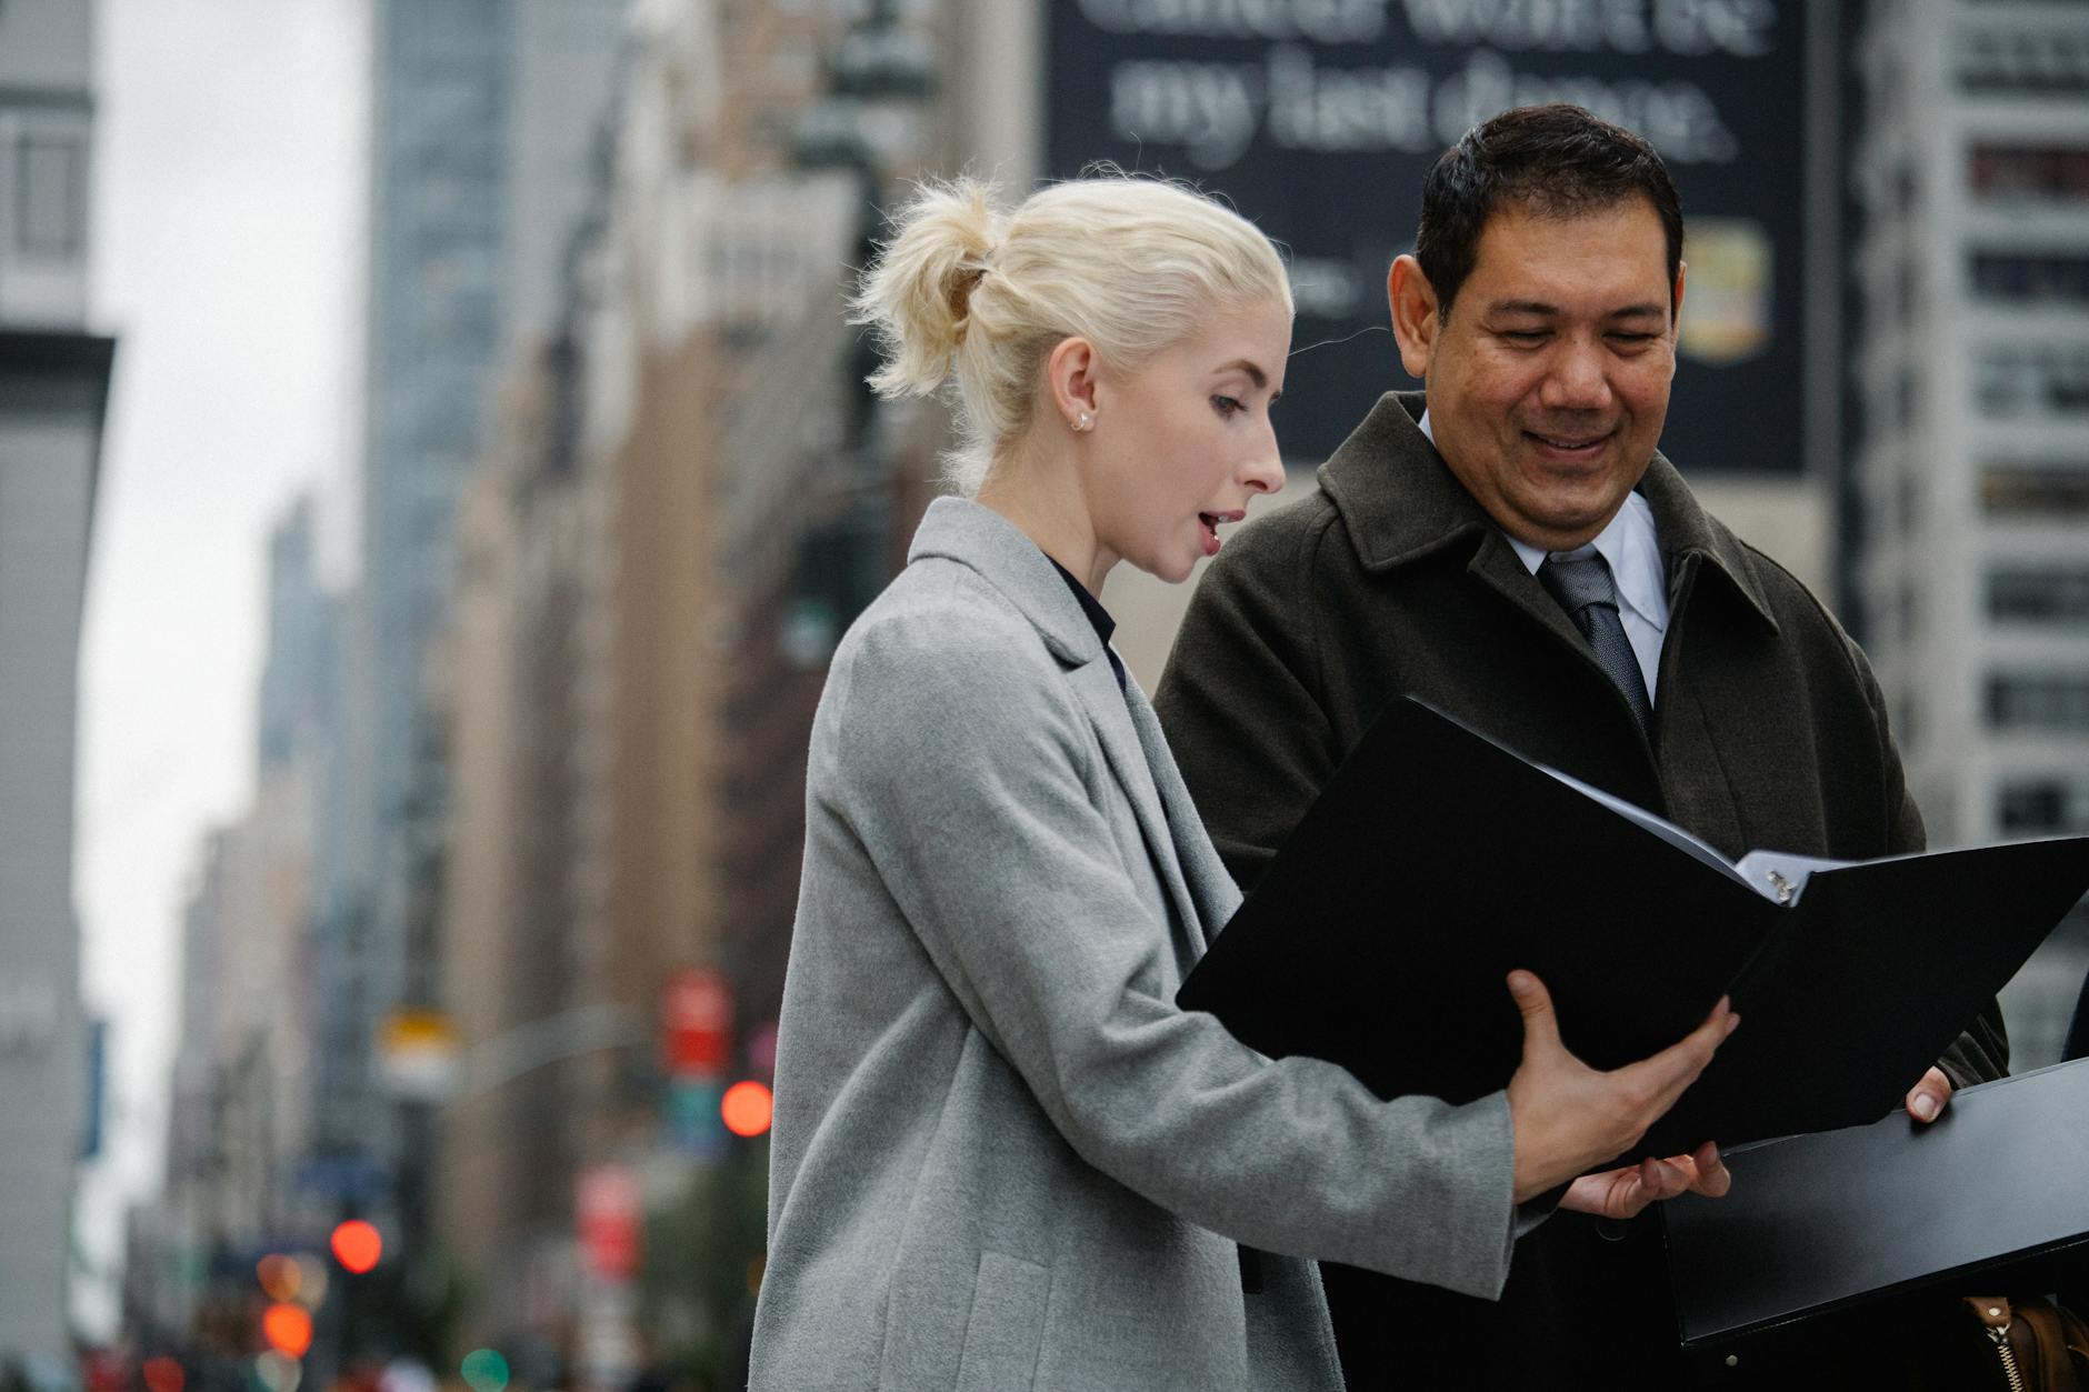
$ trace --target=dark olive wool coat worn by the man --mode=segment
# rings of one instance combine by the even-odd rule
[[[1648,736],[1443,466],[1416,426],[1421,410],[1421,393],[1381,397],[1320,468],[1318,495],[1226,541],[1159,683],[1168,742],[1243,888],[1402,694],[1730,857],[1757,846],[1836,859],[1922,849],[1863,652],[1797,579],[1707,516],[1665,458],[1640,483],[1671,610]],[[1500,823],[1471,834],[1498,836],[1515,819],[1504,807]],[[1690,949],[1688,922],[1619,928]],[[1959,1085],[1999,1076],[1999,1014],[1972,1022],[1941,1064]],[[1329,1300],[1352,1388],[1437,1386],[1435,1375],[1502,1388],[1675,1386],[1652,1212],[1623,1233],[1556,1214],[1517,1244],[1500,1304],[1339,1269]],[[1404,1375],[1358,1375],[1385,1365]]]

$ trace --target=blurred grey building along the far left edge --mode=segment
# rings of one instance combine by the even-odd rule
[[[115,353],[84,328],[92,50],[88,0],[0,4],[0,1369],[71,1354],[73,736]]]

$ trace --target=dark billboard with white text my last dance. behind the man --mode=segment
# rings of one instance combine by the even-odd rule
[[[1224,194],[1297,295],[1276,431],[1322,458],[1414,387],[1385,272],[1437,155],[1508,107],[1571,100],[1646,136],[1690,265],[1661,447],[1799,474],[1807,17],[1799,0],[1047,0],[1047,171],[1093,161]],[[1824,387],[1832,389],[1828,374]]]

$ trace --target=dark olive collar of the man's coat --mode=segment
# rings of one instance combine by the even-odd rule
[[[1421,433],[1425,397],[1418,391],[1389,391],[1364,422],[1320,466],[1320,489],[1341,512],[1356,558],[1366,571],[1391,571],[1452,546],[1464,546],[1481,564],[1481,548],[1494,539],[1512,558],[1494,518],[1464,491]],[[1757,560],[1742,541],[1698,506],[1690,485],[1661,454],[1640,481],[1640,493],[1654,512],[1661,560],[1669,575],[1669,596],[1686,569],[1698,560],[1728,581],[1769,631],[1778,629],[1757,575]],[[1489,548],[1492,550],[1492,548]]]

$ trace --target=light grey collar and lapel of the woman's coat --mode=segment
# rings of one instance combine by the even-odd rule
[[[1015,523],[963,497],[938,497],[915,531],[907,560],[938,556],[976,571],[1038,631],[1067,669],[1067,686],[1103,746],[1118,786],[1132,805],[1153,865],[1191,934],[1195,957],[1218,932],[1239,895],[1203,838],[1197,807],[1176,773],[1153,706],[1136,681],[1118,690],[1103,640],[1051,560]],[[1199,855],[1201,851],[1201,855]]]

